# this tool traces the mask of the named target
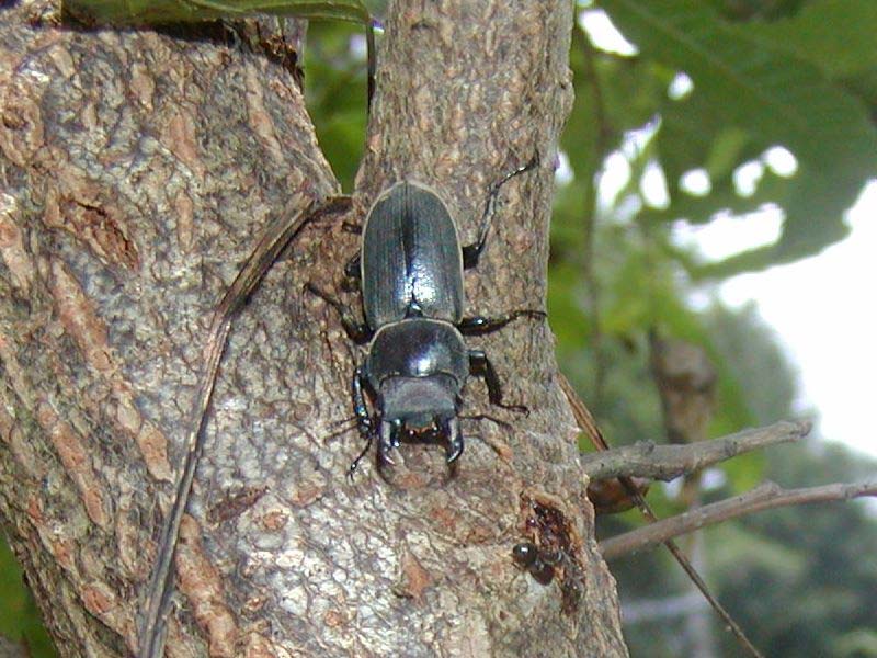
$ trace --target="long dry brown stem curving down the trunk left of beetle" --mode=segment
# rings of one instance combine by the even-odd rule
[[[265,229],[262,239],[247,259],[235,281],[216,307],[204,343],[204,371],[198,384],[198,393],[192,406],[192,418],[189,422],[189,434],[185,445],[186,454],[176,480],[173,504],[164,519],[161,531],[158,556],[152,568],[152,577],[147,590],[146,613],[141,620],[139,633],[138,658],[161,658],[164,649],[164,616],[173,591],[173,556],[176,552],[176,540],[180,535],[180,523],[183,520],[192,480],[197,470],[201,452],[204,447],[204,427],[210,407],[219,362],[226,350],[231,320],[243,308],[247,299],[259,287],[265,274],[289,245],[301,228],[319,215],[339,212],[349,207],[348,197],[330,197],[323,201],[311,201],[304,208],[285,213],[274,219]]]

